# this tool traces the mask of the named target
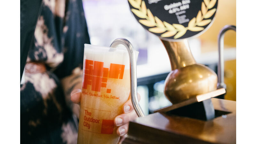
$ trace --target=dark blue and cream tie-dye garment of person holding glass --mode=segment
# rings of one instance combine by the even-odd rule
[[[81,87],[84,44],[82,0],[43,0],[20,85],[21,143],[77,143],[79,105],[70,92]],[[45,71],[31,72],[31,62]]]

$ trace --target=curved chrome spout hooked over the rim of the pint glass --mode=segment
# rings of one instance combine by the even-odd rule
[[[137,96],[137,60],[136,60],[136,53],[133,50],[132,44],[125,38],[117,38],[115,39],[110,47],[117,47],[119,44],[123,44],[128,53],[130,58],[130,78],[131,78],[131,100],[132,100],[132,106],[136,112],[136,114],[140,117],[144,117],[145,114],[140,107],[138,96]]]

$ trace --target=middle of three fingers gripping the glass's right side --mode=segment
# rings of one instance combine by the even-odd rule
[[[114,124],[116,126],[121,126],[121,125],[124,125],[126,123],[129,123],[129,121],[134,120],[137,117],[138,116],[137,116],[136,112],[133,110],[130,113],[121,114],[119,116],[116,116],[116,118],[114,119]]]

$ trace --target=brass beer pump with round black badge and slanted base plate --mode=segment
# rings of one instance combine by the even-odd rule
[[[172,71],[165,79],[164,94],[172,105],[154,112],[213,119],[215,110],[211,98],[224,94],[225,89],[218,87],[217,90],[218,77],[213,70],[196,63],[187,38],[202,34],[211,26],[218,0],[171,0],[154,4],[147,0],[128,0],[128,3],[141,26],[160,38],[171,63]],[[176,12],[180,9],[184,11]],[[137,115],[145,116],[138,107],[136,94],[131,92],[131,98]]]

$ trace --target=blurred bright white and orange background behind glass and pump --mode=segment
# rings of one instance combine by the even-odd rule
[[[159,38],[146,31],[130,12],[127,0],[83,0],[91,44],[110,46],[116,38],[128,39],[139,51],[137,60],[140,105],[146,114],[171,105],[164,96],[164,80],[171,71],[170,61]],[[217,73],[220,29],[236,25],[236,1],[219,0],[215,21],[197,38],[189,39],[191,52],[197,63]],[[224,38],[224,81],[226,100],[236,100],[236,32],[228,31]],[[161,64],[159,64],[161,62]]]

